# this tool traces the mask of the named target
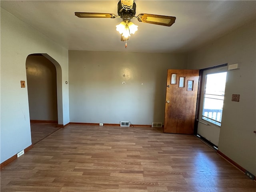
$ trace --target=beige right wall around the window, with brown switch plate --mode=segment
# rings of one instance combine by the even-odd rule
[[[188,55],[189,68],[239,64],[227,74],[219,150],[256,175],[256,21]],[[240,102],[232,102],[240,94]]]

